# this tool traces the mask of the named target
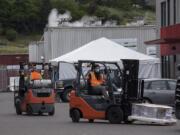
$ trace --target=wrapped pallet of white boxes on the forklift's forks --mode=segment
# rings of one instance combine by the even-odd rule
[[[173,109],[169,106],[156,104],[133,104],[132,115],[129,120],[138,120],[158,124],[174,124]]]

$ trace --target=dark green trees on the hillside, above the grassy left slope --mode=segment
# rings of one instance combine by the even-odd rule
[[[135,16],[133,4],[142,7],[136,10],[141,15],[147,9],[145,0],[0,0],[0,31],[14,29],[23,34],[42,32],[52,8],[57,8],[60,13],[70,11],[71,21],[79,20],[84,15],[96,15],[103,21],[128,20]],[[125,16],[122,17],[122,14]]]

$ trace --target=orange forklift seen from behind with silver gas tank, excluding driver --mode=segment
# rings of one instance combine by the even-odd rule
[[[19,89],[14,91],[14,105],[16,114],[21,115],[23,112],[28,115],[55,113],[55,93],[52,89],[51,80],[35,79],[30,80],[25,77],[25,64],[20,63],[19,70]]]

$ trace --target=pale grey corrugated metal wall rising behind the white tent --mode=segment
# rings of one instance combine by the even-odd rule
[[[146,53],[144,41],[156,38],[154,26],[143,27],[60,27],[47,28],[44,34],[46,60],[56,58],[100,37],[137,38],[139,52]],[[45,53],[46,54],[46,53]]]

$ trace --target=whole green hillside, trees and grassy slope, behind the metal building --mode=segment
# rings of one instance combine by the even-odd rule
[[[40,39],[53,8],[59,13],[70,11],[71,22],[88,15],[118,25],[138,18],[155,23],[154,7],[145,0],[0,0],[0,53],[27,52],[28,43]]]

